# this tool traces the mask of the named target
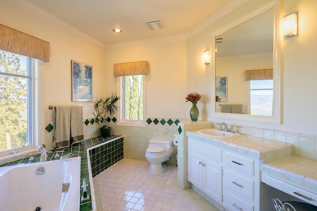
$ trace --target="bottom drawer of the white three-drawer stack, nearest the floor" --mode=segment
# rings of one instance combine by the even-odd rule
[[[224,191],[223,205],[230,211],[254,211],[253,205],[243,201],[227,190]]]

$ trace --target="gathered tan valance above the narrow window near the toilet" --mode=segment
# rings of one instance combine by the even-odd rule
[[[113,74],[118,76],[134,76],[134,75],[148,75],[149,63],[147,61],[127,62],[114,64]]]

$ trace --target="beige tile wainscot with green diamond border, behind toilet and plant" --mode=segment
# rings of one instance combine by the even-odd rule
[[[144,160],[149,141],[153,138],[174,139],[177,134],[177,124],[181,119],[169,117],[146,117],[145,127],[118,126],[116,117],[107,117],[106,125],[111,127],[111,134],[121,134],[124,136],[124,157]],[[83,120],[84,137],[86,139],[100,136],[99,127],[94,124],[92,118]],[[45,144],[47,149],[53,149],[53,122],[45,123]],[[174,153],[166,162],[168,164],[177,164],[175,154],[177,147],[174,147]],[[7,163],[7,162],[6,162]]]

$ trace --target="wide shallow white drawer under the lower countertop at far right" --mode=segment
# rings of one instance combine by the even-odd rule
[[[295,196],[298,199],[301,199],[309,204],[317,206],[317,194],[297,187],[295,185],[289,184],[282,180],[276,179],[271,176],[266,177],[266,184],[281,190],[289,195]],[[274,196],[275,197],[275,196]],[[272,198],[274,198],[272,197]]]

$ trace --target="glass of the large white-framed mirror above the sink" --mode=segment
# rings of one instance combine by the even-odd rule
[[[230,84],[227,85],[228,98],[225,102],[242,104],[243,114],[272,116],[273,17],[273,9],[269,9],[215,36],[215,48],[217,49],[215,52],[215,77],[226,76],[230,80]],[[245,70],[251,71],[245,73]],[[250,95],[248,82],[251,80],[270,81],[271,87],[267,86],[267,88],[271,88],[269,99],[266,99],[267,96],[264,94],[248,96]],[[261,82],[254,83],[261,84]],[[268,91],[264,89],[252,90],[252,93]],[[257,99],[261,96],[265,98]],[[270,100],[269,104],[268,100]],[[215,102],[215,112],[223,113],[218,108],[218,104]],[[261,105],[264,107],[261,108]]]

